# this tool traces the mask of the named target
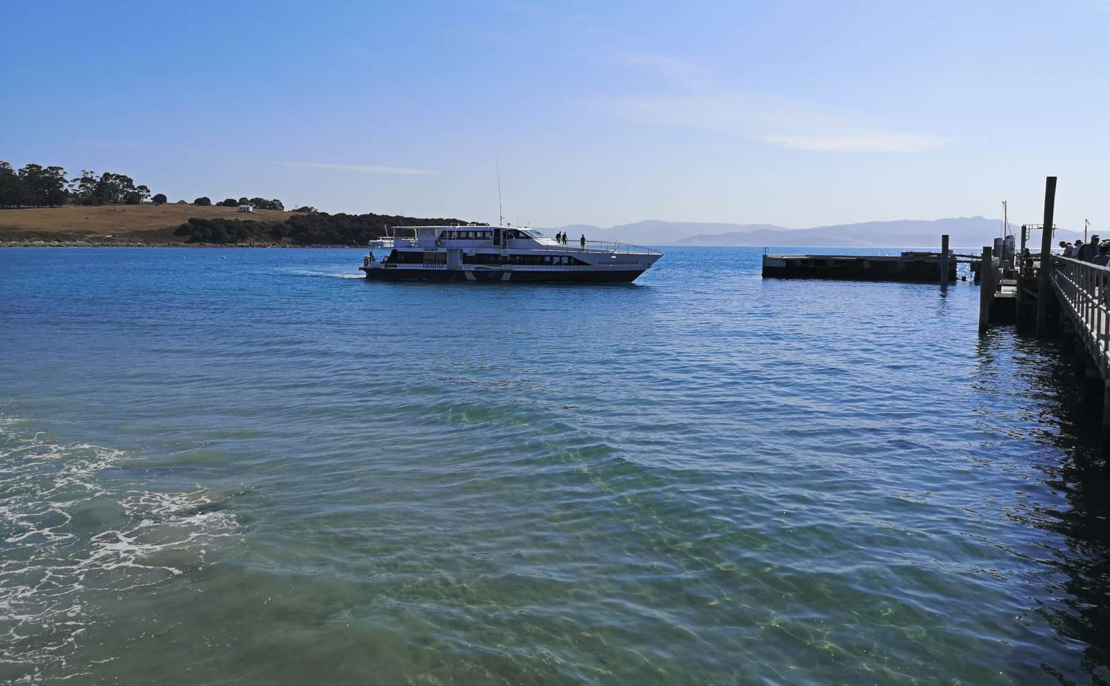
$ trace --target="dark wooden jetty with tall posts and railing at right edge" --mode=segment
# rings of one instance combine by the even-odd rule
[[[1045,222],[1022,225],[1022,251],[993,254],[985,246],[979,291],[979,335],[991,324],[1057,339],[1080,372],[1084,402],[1101,403],[1102,444],[1110,453],[1110,268],[1052,254],[1056,176],[1045,183]],[[1040,253],[1025,251],[1041,230]]]

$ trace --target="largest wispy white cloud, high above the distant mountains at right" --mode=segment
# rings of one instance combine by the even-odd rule
[[[612,111],[635,121],[702,129],[790,150],[920,152],[945,144],[940,137],[899,131],[871,115],[729,90],[716,83],[708,70],[678,58],[620,54],[615,60],[650,70],[669,87],[668,94],[603,101]]]

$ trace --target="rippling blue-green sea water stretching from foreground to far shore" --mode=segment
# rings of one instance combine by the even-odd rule
[[[966,283],[667,252],[0,250],[0,682],[1110,679],[1052,346],[978,340]]]

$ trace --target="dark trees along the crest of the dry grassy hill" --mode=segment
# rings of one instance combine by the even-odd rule
[[[61,167],[42,167],[30,163],[19,171],[8,162],[0,160],[0,208],[57,208],[68,203],[81,205],[138,205],[144,202],[164,204],[168,202],[164,193],[150,192],[144,184],[135,184],[134,179],[125,174],[117,174],[82,170],[81,175],[68,179]],[[189,204],[179,200],[179,204]],[[210,206],[212,201],[201,196],[192,204]],[[278,199],[265,198],[229,198],[220,203],[222,206],[249,204],[259,210],[284,210]],[[302,211],[311,210],[303,208]]]

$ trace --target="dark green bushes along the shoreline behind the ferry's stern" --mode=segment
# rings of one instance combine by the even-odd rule
[[[299,210],[302,211],[285,221],[276,222],[193,218],[173,233],[185,239],[186,243],[363,245],[366,241],[385,235],[385,230],[389,226],[466,224],[457,219],[421,219],[391,214],[327,214],[326,212],[316,212],[311,208],[299,208]]]

